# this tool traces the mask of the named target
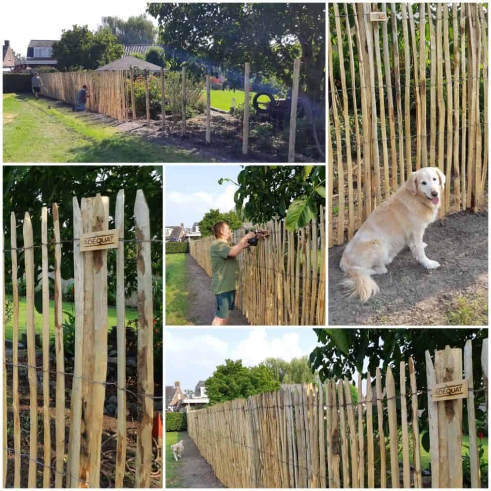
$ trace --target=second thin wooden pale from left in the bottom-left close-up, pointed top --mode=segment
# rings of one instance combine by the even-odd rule
[[[24,261],[26,271],[27,363],[29,379],[30,432],[28,488],[36,488],[38,460],[38,378],[36,373],[36,338],[34,331],[34,249],[31,217],[24,215]]]

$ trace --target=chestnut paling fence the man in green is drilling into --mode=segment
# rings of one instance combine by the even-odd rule
[[[259,228],[271,236],[238,256],[239,287],[236,306],[253,325],[323,325],[326,295],[324,207],[296,231],[285,221],[272,220]],[[245,230],[234,232],[234,242]],[[210,245],[215,238],[191,241],[189,252],[211,276]]]

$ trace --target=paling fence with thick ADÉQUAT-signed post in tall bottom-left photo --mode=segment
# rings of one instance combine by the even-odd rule
[[[73,372],[65,370],[63,346],[63,312],[61,297],[61,245],[57,204],[52,205],[53,241],[48,242],[48,208],[41,212],[41,245],[33,244],[33,225],[25,213],[22,225],[23,247],[18,248],[17,222],[12,212],[10,219],[10,247],[4,253],[12,259],[12,356],[3,365],[3,487],[6,486],[8,468],[12,466],[13,487],[36,488],[42,479],[43,488],[99,488],[102,454],[102,422],[107,386],[117,390],[117,450],[114,469],[115,487],[123,487],[127,472],[126,454],[135,454],[135,486],[149,488],[152,484],[153,441],[153,331],[152,283],[150,259],[150,222],[145,196],[137,192],[134,209],[134,231],[137,243],[138,272],[138,389],[126,388],[126,340],[124,295],[124,191],[120,190],[115,207],[115,226],[119,232],[116,258],[116,310],[117,310],[117,382],[107,381],[107,249],[80,250],[80,237],[84,233],[108,229],[109,198],[73,198],[73,261],[75,269],[75,355]],[[49,360],[49,255],[54,245],[54,343],[55,366]],[[37,366],[34,322],[35,247],[42,249],[42,365]],[[19,294],[17,281],[17,253],[23,253],[26,277],[27,363],[19,362]],[[4,257],[4,256],[2,256]],[[5,276],[3,278],[5,285]],[[3,290],[5,298],[5,289]],[[5,304],[5,302],[4,302]],[[5,313],[5,312],[4,312]],[[5,317],[4,317],[5,318]],[[3,346],[5,355],[5,346]],[[23,356],[22,356],[23,357]],[[7,365],[12,368],[12,379],[7,378]],[[19,404],[19,368],[26,369],[29,382],[29,405]],[[55,374],[55,442],[51,442],[50,380]],[[42,375],[42,391],[38,388],[38,375]],[[71,380],[69,416],[65,413],[65,377]],[[21,381],[22,382],[22,381]],[[12,395],[11,422],[7,415],[7,389]],[[42,392],[43,405],[38,408],[38,392]],[[138,403],[137,446],[127,448],[126,394],[132,393]],[[29,413],[29,416],[27,414]],[[21,430],[22,419],[29,419],[28,438]],[[38,451],[38,416],[43,421],[43,455]],[[7,425],[13,428],[13,447],[8,446]],[[69,427],[68,441],[65,429]],[[25,441],[22,441],[25,439]],[[29,453],[22,448],[29,447]],[[52,450],[54,448],[54,450]],[[25,452],[25,451],[24,451]],[[9,455],[12,458],[9,458]],[[28,460],[28,471],[21,476],[21,460]],[[54,479],[53,479],[54,476]],[[107,478],[107,476],[105,476]],[[102,481],[102,482],[105,482]],[[112,484],[112,483],[109,483]]]

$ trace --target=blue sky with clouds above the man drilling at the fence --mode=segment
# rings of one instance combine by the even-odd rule
[[[165,168],[165,225],[191,227],[210,208],[235,208],[237,186],[218,184],[220,178],[237,182],[240,165],[186,165]]]

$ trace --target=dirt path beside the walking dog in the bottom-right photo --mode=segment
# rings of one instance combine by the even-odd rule
[[[216,478],[210,464],[201,457],[198,447],[188,432],[181,433],[184,444],[182,463],[177,467],[178,479],[182,488],[224,488]]]

